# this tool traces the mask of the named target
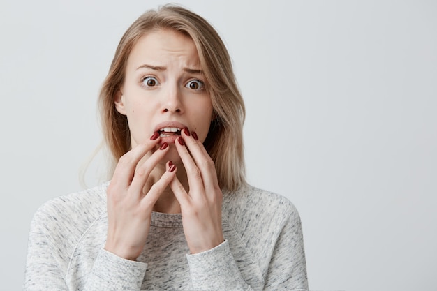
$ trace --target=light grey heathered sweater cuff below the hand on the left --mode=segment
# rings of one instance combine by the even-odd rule
[[[120,258],[102,248],[87,280],[87,290],[140,290],[146,269],[146,263]]]

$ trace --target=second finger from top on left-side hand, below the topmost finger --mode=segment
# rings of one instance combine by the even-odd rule
[[[169,148],[167,142],[164,142],[158,150],[147,158],[145,163],[136,168],[130,186],[132,193],[138,193],[138,195],[142,194],[142,188],[144,188],[149,174],[154,170],[156,165],[158,165],[159,161],[163,159]]]

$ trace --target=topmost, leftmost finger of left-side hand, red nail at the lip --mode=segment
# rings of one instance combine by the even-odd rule
[[[154,135],[152,135],[154,137]],[[144,144],[138,144],[135,148],[121,156],[115,167],[112,182],[128,186],[133,179],[133,173],[140,159],[158,144],[160,138],[148,140]]]

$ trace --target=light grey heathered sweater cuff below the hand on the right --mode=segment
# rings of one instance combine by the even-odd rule
[[[230,252],[228,241],[194,255],[186,255],[195,290],[245,290],[246,282]]]

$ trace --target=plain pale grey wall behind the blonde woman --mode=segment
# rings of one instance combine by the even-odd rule
[[[22,288],[36,209],[82,188],[122,33],[163,3],[0,2],[1,290]],[[310,289],[435,290],[437,2],[179,3],[228,46],[248,179],[299,209]]]

